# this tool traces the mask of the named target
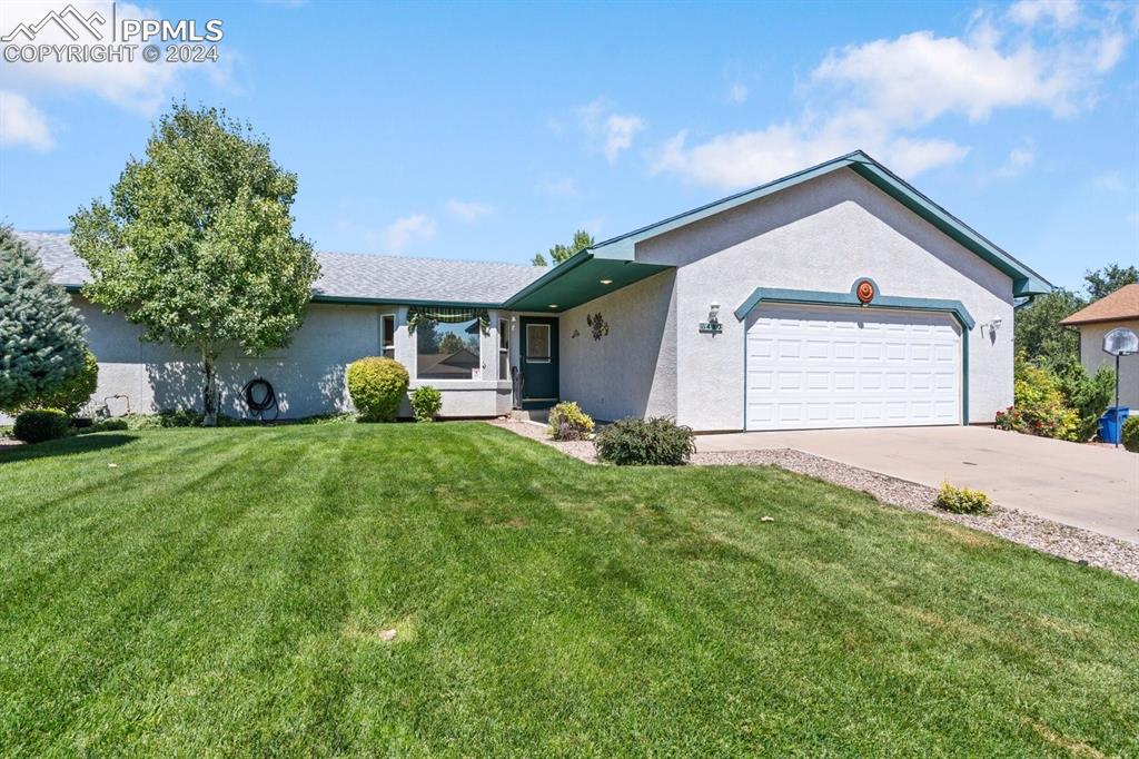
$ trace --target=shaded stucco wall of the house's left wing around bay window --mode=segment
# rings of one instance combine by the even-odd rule
[[[99,360],[95,405],[106,403],[114,416],[130,411],[150,414],[169,408],[202,408],[202,373],[197,357],[167,344],[139,340],[141,328],[121,315],[106,313],[81,296],[73,296],[88,325],[87,340]],[[286,349],[261,357],[240,351],[224,352],[219,360],[221,410],[245,417],[248,410],[241,387],[261,376],[273,385],[280,418],[302,418],[352,408],[344,372],[364,356],[380,353],[380,317],[395,313],[395,358],[409,367],[411,389],[431,384],[443,393],[443,416],[495,416],[510,410],[509,382],[498,373],[498,318],[492,315],[491,334],[482,337],[484,361],[481,381],[415,379],[415,336],[407,327],[407,308],[311,303],[304,324]],[[410,416],[404,401],[401,416]],[[9,419],[0,418],[2,422]]]

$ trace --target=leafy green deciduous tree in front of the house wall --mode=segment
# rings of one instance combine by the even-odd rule
[[[144,340],[202,357],[206,426],[216,424],[222,349],[281,348],[301,326],[320,268],[293,234],[296,187],[248,124],[175,104],[109,203],[72,217],[72,247],[93,278],[83,293],[142,325]]]

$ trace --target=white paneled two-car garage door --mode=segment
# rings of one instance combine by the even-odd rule
[[[950,315],[761,305],[747,329],[747,429],[961,422]]]

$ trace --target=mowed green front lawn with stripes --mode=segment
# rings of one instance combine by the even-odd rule
[[[0,450],[5,754],[1134,756],[1137,652],[1139,583],[778,470],[478,423]]]

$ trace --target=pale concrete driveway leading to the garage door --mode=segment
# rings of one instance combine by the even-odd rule
[[[1002,506],[1139,544],[1139,455],[989,427],[700,435],[702,452],[794,448],[890,476],[989,493]]]

